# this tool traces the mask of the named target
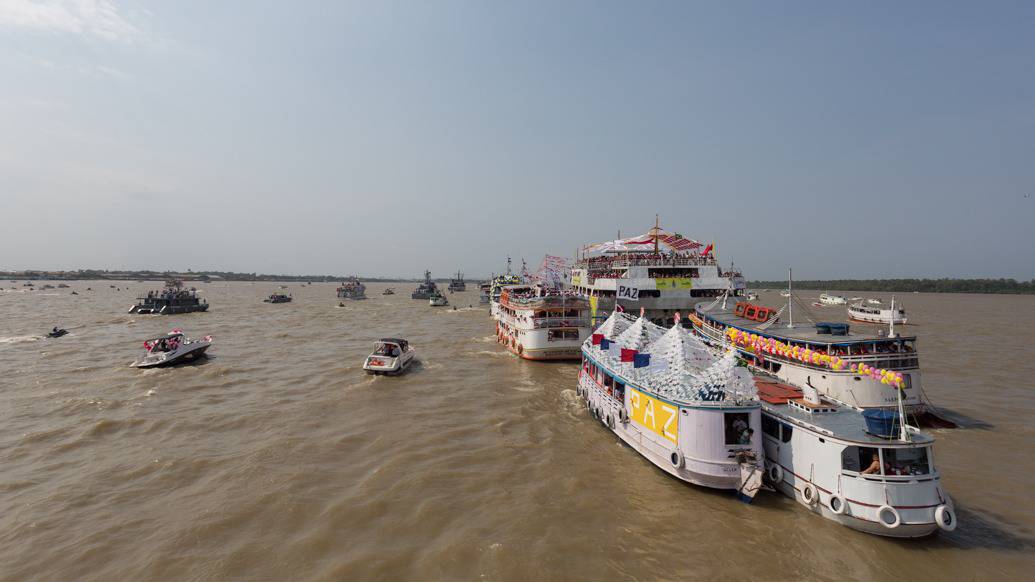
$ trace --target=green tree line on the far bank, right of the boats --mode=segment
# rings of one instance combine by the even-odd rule
[[[786,281],[752,281],[752,289],[786,289]],[[1035,294],[1035,280],[1015,279],[832,279],[795,281],[795,289],[817,291],[876,291],[921,293]]]

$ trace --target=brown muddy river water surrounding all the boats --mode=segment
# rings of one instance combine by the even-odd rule
[[[477,290],[202,285],[205,314],[130,316],[157,283],[0,293],[0,579],[1018,579],[1035,569],[1035,297],[898,298],[959,527],[858,533],[777,494],[746,505],[656,469],[576,401],[575,363],[497,346]],[[93,291],[86,291],[92,287]],[[804,296],[817,292],[802,292]],[[777,304],[775,293],[763,295]],[[467,309],[468,304],[472,309]],[[829,310],[829,311],[828,311]],[[819,313],[840,310],[825,308]],[[830,319],[830,317],[825,317]],[[41,339],[54,325],[71,333]],[[128,368],[212,334],[202,363]],[[409,339],[398,378],[360,366]],[[1028,573],[1027,575],[1025,573]]]

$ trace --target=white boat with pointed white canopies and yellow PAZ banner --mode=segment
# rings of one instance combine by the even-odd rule
[[[675,477],[753,498],[762,405],[736,352],[715,357],[678,322],[664,329],[623,313],[582,352],[579,395],[623,442]]]

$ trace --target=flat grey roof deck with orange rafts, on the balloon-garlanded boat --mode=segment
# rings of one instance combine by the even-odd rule
[[[833,345],[833,346],[845,346],[860,343],[884,343],[884,342],[912,342],[916,340],[915,336],[895,336],[894,338],[889,338],[886,334],[881,334],[879,331],[883,331],[883,327],[878,328],[865,328],[861,326],[850,325],[848,334],[845,336],[834,336],[831,333],[820,333],[819,329],[814,323],[802,321],[796,322],[793,328],[788,327],[787,315],[781,316],[781,320],[776,323],[765,326],[766,322],[756,321],[753,319],[747,319],[736,314],[736,307],[733,300],[727,302],[727,307],[722,308],[721,304],[716,304],[714,307],[709,307],[714,301],[702,301],[694,305],[693,312],[704,320],[711,320],[712,322],[720,323],[724,326],[732,326],[744,331],[751,333],[759,333],[769,338],[775,338],[777,340],[789,340],[797,342],[807,342],[811,344],[823,344],[823,345]]]

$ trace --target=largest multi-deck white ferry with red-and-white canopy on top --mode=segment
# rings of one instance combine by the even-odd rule
[[[652,322],[668,326],[676,312],[689,312],[701,298],[741,295],[746,284],[739,271],[719,266],[711,244],[655,226],[641,236],[585,246],[571,268],[571,287],[590,299],[598,321],[617,302],[628,311],[642,308]]]

